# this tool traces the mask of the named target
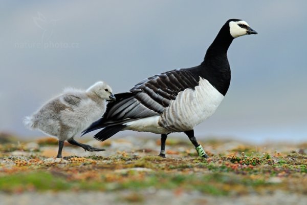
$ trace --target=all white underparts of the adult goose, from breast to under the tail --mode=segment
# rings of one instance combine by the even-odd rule
[[[156,134],[192,130],[215,112],[223,98],[208,80],[200,78],[194,91],[179,92],[162,115],[127,122],[125,129]]]

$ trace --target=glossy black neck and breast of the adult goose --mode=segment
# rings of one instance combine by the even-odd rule
[[[207,79],[223,95],[227,93],[230,85],[231,72],[227,51],[232,40],[229,25],[225,24],[209,46],[199,67],[200,76]]]

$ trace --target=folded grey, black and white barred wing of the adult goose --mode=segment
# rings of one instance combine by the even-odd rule
[[[161,114],[176,99],[178,93],[198,85],[199,76],[188,69],[177,69],[161,73],[116,95],[116,101],[108,104],[103,123],[120,124],[139,118]]]

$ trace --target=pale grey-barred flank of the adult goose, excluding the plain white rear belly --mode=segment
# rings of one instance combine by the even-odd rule
[[[194,91],[185,89],[171,101],[163,112],[159,125],[172,132],[192,130],[215,112],[223,98],[208,80],[200,78],[199,86]]]

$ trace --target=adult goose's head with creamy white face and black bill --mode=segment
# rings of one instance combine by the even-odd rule
[[[229,25],[229,32],[233,38],[243,35],[257,34],[257,31],[252,29],[244,20],[229,19],[226,24]]]

